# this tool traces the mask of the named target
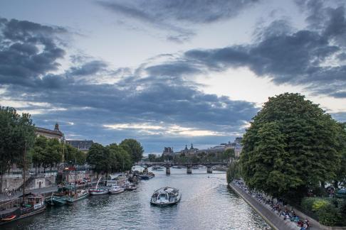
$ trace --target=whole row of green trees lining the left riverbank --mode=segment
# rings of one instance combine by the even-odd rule
[[[117,172],[131,168],[142,158],[143,148],[133,139],[125,139],[119,146],[113,143],[103,147],[94,144],[88,155],[56,139],[36,138],[30,114],[17,114],[16,109],[0,106],[0,177],[9,172],[12,165],[23,168],[26,150],[26,168],[31,163],[36,168],[51,168],[63,161],[73,165],[88,162],[97,172]],[[0,184],[2,190],[2,183]]]

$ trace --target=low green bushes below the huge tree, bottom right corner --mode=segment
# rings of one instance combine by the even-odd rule
[[[335,207],[332,199],[321,197],[305,197],[301,202],[303,209],[315,213],[321,224],[336,226],[342,224],[340,209]]]

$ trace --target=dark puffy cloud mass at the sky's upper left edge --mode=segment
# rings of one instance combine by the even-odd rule
[[[0,83],[32,85],[47,72],[58,70],[65,55],[56,35],[63,28],[29,21],[0,21]]]

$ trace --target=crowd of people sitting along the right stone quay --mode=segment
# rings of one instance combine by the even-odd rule
[[[251,195],[251,197],[263,204],[265,207],[278,214],[279,217],[283,218],[283,221],[289,221],[300,230],[310,229],[310,222],[308,219],[300,218],[297,214],[295,214],[293,209],[289,210],[287,205],[281,199],[273,199],[263,195],[261,192],[249,190],[243,180],[234,180],[233,183],[234,185],[240,187],[241,190],[248,193],[248,195]]]

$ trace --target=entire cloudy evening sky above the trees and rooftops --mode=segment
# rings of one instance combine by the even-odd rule
[[[345,1],[2,0],[0,105],[145,153],[242,136],[268,97],[346,121]]]

